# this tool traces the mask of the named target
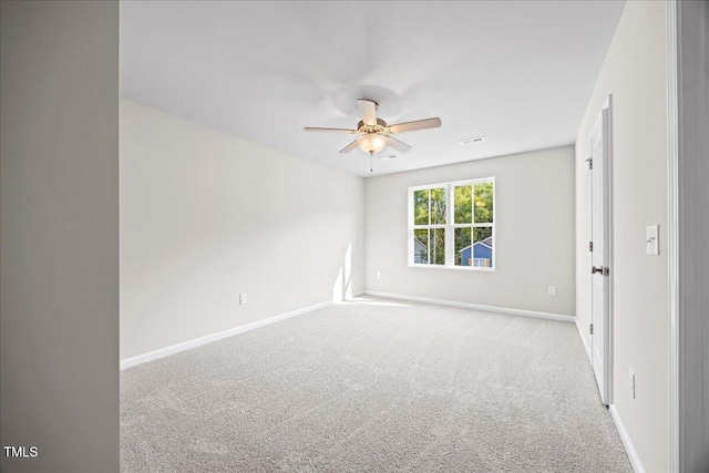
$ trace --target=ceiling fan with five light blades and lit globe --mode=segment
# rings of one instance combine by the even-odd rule
[[[305,131],[336,132],[360,135],[352,143],[340,150],[340,153],[349,153],[350,151],[359,146],[362,152],[368,153],[370,156],[372,156],[376,153],[382,151],[384,146],[391,146],[402,153],[411,150],[411,146],[390,135],[397,133],[413,132],[415,130],[438,128],[439,126],[441,126],[441,119],[438,117],[388,125],[387,122],[377,117],[377,109],[379,107],[379,104],[377,102],[367,99],[359,99],[357,101],[357,106],[359,107],[360,115],[362,115],[362,120],[360,120],[360,122],[357,124],[356,130],[306,127]]]

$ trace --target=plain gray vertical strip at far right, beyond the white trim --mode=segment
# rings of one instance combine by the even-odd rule
[[[709,3],[678,2],[680,471],[709,471]]]

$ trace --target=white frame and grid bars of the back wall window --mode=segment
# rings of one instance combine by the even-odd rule
[[[472,185],[480,183],[492,183],[492,223],[472,223],[472,224],[454,224],[454,195],[453,188],[456,186],[463,185]],[[414,263],[414,238],[413,238],[413,193],[415,191],[425,191],[438,187],[445,187],[445,225],[427,225],[419,226],[418,228],[444,228],[445,229],[445,265],[433,265],[430,263]],[[473,187],[474,188],[474,187]],[[439,184],[427,184],[423,186],[412,186],[409,187],[409,198],[408,198],[408,216],[409,216],[409,232],[408,232],[408,264],[409,267],[414,268],[445,268],[445,269],[455,269],[463,271],[494,271],[497,267],[497,244],[496,237],[497,233],[495,232],[495,223],[497,222],[497,184],[495,183],[495,177],[479,177],[474,179],[464,179],[464,181],[454,181],[450,183],[439,183]],[[482,267],[482,266],[460,266],[455,265],[455,228],[475,228],[475,227],[492,227],[492,266]],[[471,243],[472,245],[472,243]],[[472,249],[471,249],[472,251]]]

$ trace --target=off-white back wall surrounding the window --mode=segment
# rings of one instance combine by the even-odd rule
[[[489,176],[495,271],[409,267],[408,187]],[[370,177],[364,188],[367,290],[574,315],[573,146]]]

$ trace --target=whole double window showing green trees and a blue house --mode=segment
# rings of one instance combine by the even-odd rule
[[[494,269],[495,179],[409,188],[409,265]]]

